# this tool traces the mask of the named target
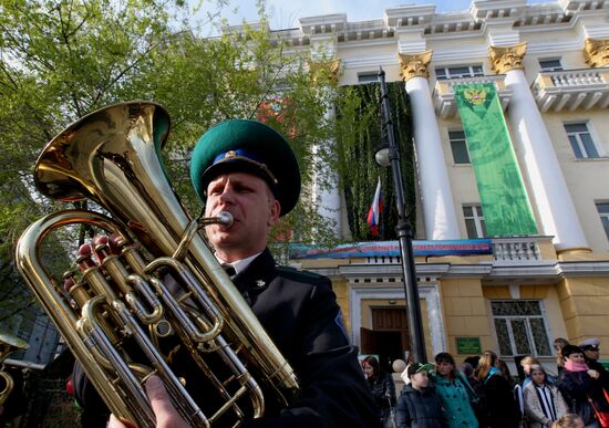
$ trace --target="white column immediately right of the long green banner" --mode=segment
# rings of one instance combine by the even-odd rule
[[[524,148],[524,166],[541,221],[557,250],[588,248],[550,136],[522,70],[506,72],[512,90],[509,122]]]

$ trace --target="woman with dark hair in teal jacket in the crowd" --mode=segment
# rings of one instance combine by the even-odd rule
[[[444,419],[450,427],[477,427],[469,404],[475,393],[465,376],[455,369],[453,356],[442,352],[435,356],[435,394],[442,401]]]

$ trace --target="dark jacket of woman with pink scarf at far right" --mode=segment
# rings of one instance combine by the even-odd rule
[[[558,378],[558,389],[562,393],[569,411],[577,414],[588,425],[595,420],[592,407],[588,403],[588,397],[592,399],[595,406],[600,411],[609,411],[609,405],[605,399],[602,384],[600,380],[592,379],[587,372],[569,372],[564,369]]]

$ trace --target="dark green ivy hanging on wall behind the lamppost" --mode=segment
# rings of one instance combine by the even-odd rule
[[[374,160],[374,153],[381,142],[380,92],[381,87],[378,83],[341,86],[338,90],[338,170],[344,190],[349,227],[354,241],[373,239],[367,217],[379,177],[384,205],[379,239],[398,239],[395,231],[398,209],[392,169],[383,168]],[[388,83],[388,93],[393,132],[400,150],[405,211],[414,234],[416,197],[412,115],[403,82]]]

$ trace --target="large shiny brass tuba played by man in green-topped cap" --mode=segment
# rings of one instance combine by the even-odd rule
[[[229,225],[230,215],[193,220],[167,180],[159,152],[169,127],[164,107],[131,102],[93,112],[53,138],[37,161],[37,188],[63,201],[91,199],[110,216],[65,210],[43,217],[21,236],[17,264],[120,419],[155,425],[143,384],[156,374],[190,425],[238,426],[262,416],[270,400],[288,404],[298,382],[198,234],[206,223]],[[100,242],[95,254],[76,260],[82,276],[66,276],[64,289],[38,252],[50,232],[78,223],[117,236],[120,253]],[[172,338],[178,345],[164,349]],[[167,362],[176,348],[188,351],[217,398],[189,392],[198,375],[174,374]],[[219,405],[209,409],[208,403]]]

